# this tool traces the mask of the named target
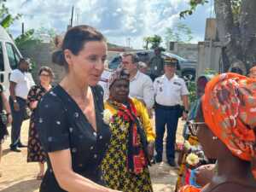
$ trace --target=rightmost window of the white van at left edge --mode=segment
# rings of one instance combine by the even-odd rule
[[[18,67],[18,62],[20,61],[20,55],[18,54],[13,44],[6,43],[5,46],[6,46],[8,59],[9,59],[9,65],[12,69],[15,69]]]

